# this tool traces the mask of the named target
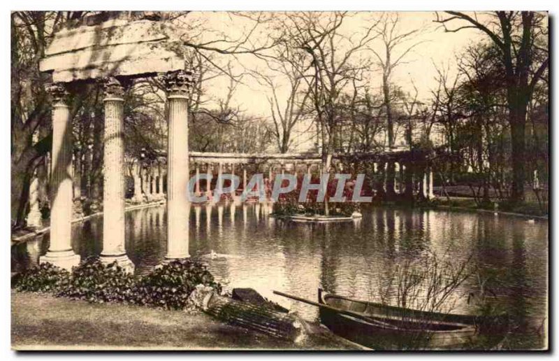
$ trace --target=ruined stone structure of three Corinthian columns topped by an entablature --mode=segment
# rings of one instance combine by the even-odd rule
[[[168,102],[168,250],[189,257],[187,100],[193,74],[173,46],[173,29],[157,13],[103,12],[57,31],[40,69],[50,74],[52,97],[52,211],[50,246],[41,262],[71,269],[80,256],[71,247],[72,127],[68,94],[82,83],[105,91],[103,250],[101,260],[133,271],[124,248],[124,91],[135,78],[161,76]]]

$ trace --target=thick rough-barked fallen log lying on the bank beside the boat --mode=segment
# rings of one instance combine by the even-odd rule
[[[220,296],[212,288],[204,286],[198,286],[190,299],[198,309],[231,325],[288,341],[298,341],[304,337],[301,320],[266,304],[252,304]]]

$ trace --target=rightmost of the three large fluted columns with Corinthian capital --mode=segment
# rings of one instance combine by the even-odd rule
[[[168,99],[167,150],[167,260],[190,257],[188,99],[192,74],[187,71],[166,73]]]

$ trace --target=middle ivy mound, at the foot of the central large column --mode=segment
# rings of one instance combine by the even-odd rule
[[[103,264],[89,257],[73,269],[70,279],[57,293],[59,297],[85,299],[93,303],[130,302],[136,278],[116,262]]]

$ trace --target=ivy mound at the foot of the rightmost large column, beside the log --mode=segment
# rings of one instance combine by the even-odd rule
[[[165,309],[184,309],[196,285],[203,284],[221,292],[222,287],[203,264],[190,260],[176,260],[157,267],[140,279],[134,295],[140,305]]]

